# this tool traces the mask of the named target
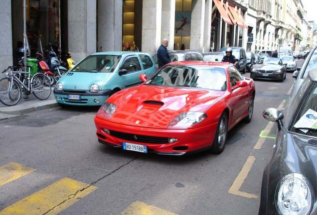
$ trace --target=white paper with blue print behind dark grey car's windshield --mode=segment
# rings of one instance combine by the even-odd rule
[[[306,113],[296,122],[294,127],[300,128],[300,130],[304,133],[307,133],[308,129],[317,129],[317,112],[312,109],[308,109]]]

